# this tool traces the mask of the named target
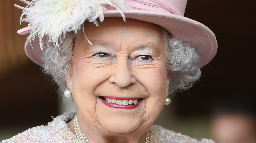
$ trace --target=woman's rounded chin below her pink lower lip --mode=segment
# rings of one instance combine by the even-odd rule
[[[96,119],[106,131],[125,134],[141,128],[145,113],[145,102],[135,109],[117,109],[97,102]]]

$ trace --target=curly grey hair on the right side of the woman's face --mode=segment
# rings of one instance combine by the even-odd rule
[[[177,38],[169,39],[168,46],[168,72],[172,74],[169,95],[173,95],[174,92],[190,88],[200,78],[200,56],[192,45]]]

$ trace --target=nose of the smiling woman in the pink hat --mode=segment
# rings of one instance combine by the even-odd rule
[[[136,79],[132,76],[131,66],[128,60],[117,60],[113,66],[112,75],[109,78],[110,83],[115,83],[120,88],[136,83]]]

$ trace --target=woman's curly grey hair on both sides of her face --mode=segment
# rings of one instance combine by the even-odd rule
[[[167,73],[172,74],[168,94],[174,96],[175,92],[188,89],[200,78],[201,71],[198,67],[200,56],[191,44],[172,37],[164,28],[161,28],[161,32],[167,55]],[[59,42],[59,48],[49,43],[43,52],[42,70],[46,75],[50,75],[59,86],[59,95],[67,111],[76,110],[73,96],[65,98],[63,93],[67,87],[66,77],[72,72],[75,47],[81,36],[83,36],[82,30],[77,34],[68,32],[62,39],[63,42]]]

